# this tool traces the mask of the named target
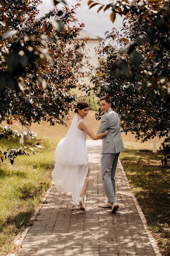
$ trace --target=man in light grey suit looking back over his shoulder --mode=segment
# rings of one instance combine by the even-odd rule
[[[108,202],[99,205],[99,207],[111,207],[111,212],[116,212],[119,205],[116,203],[114,176],[120,151],[124,150],[120,132],[120,118],[118,113],[111,108],[110,97],[103,96],[99,100],[99,105],[104,115],[97,134],[108,131],[108,135],[102,139],[101,154],[102,181]]]

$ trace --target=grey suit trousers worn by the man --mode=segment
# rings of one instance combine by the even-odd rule
[[[101,154],[102,181],[108,201],[113,204],[116,201],[116,182],[114,179],[119,153]]]

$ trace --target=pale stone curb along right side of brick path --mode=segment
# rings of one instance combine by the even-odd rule
[[[152,245],[152,247],[153,247],[153,250],[154,250],[156,256],[162,256],[162,254],[161,254],[161,252],[160,252],[160,250],[159,250],[159,247],[158,247],[158,245],[157,245],[157,242],[156,242],[155,238],[153,237],[151,231],[149,230],[149,228],[148,228],[148,226],[147,226],[147,221],[146,221],[146,218],[144,217],[144,214],[143,214],[143,212],[142,212],[142,209],[141,209],[141,207],[140,207],[140,205],[139,205],[139,203],[138,203],[138,201],[137,201],[135,195],[131,192],[130,183],[129,183],[129,180],[128,180],[127,175],[126,175],[126,173],[125,173],[125,170],[124,170],[124,168],[123,168],[123,166],[122,166],[122,163],[121,163],[120,158],[119,158],[119,160],[118,160],[118,163],[119,163],[119,166],[120,166],[120,168],[121,168],[121,170],[122,170],[123,176],[125,177],[125,180],[126,180],[126,183],[127,183],[127,187],[129,188],[130,194],[132,195],[134,204],[135,204],[135,206],[136,206],[137,211],[139,212],[139,216],[140,216],[140,218],[141,218],[141,220],[142,220],[142,223],[143,223],[143,225],[144,225],[144,229],[146,230],[147,236],[148,236],[148,238],[149,238],[149,240],[150,240],[150,243],[151,243],[151,245]]]

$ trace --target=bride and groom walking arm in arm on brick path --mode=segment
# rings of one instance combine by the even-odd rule
[[[89,163],[86,148],[87,135],[93,140],[102,139],[101,166],[102,182],[108,201],[99,207],[110,207],[116,212],[119,205],[116,202],[115,172],[119,154],[124,150],[120,118],[111,108],[111,99],[103,96],[99,99],[102,122],[97,134],[91,130],[84,118],[88,114],[89,106],[86,102],[79,102],[75,109],[75,116],[68,132],[57,145],[54,153],[54,170],[52,179],[56,189],[71,192],[73,204],[85,210],[85,193],[88,188]]]

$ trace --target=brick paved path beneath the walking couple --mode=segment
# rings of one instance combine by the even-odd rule
[[[102,186],[101,142],[87,141],[90,178],[86,211],[72,205],[70,194],[54,186],[29,229],[16,256],[152,256],[150,244],[124,175],[116,171],[119,211],[99,208],[105,201]]]

